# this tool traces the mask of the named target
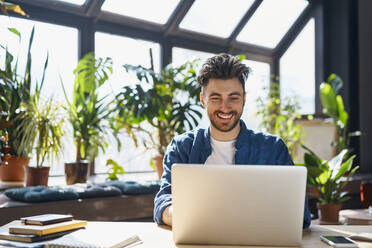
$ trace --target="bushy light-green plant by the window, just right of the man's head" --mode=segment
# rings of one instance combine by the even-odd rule
[[[297,145],[304,137],[302,127],[295,122],[301,117],[298,113],[300,106],[297,98],[286,97],[281,100],[279,84],[272,82],[267,96],[257,98],[256,103],[256,116],[262,119],[261,131],[281,137],[294,158]]]

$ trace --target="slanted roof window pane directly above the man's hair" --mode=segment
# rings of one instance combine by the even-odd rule
[[[180,27],[226,38],[238,25],[252,3],[253,0],[195,1]]]

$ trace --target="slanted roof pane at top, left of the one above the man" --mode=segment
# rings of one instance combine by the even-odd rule
[[[164,24],[176,8],[178,2],[179,0],[107,0],[102,6],[102,10]]]

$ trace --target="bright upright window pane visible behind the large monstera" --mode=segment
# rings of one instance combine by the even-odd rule
[[[97,57],[110,57],[114,61],[113,75],[110,77],[107,87],[100,92],[103,95],[110,92],[116,94],[120,92],[122,87],[137,83],[136,76],[133,73],[126,73],[123,65],[142,65],[150,68],[150,48],[152,48],[155,70],[160,70],[160,46],[158,43],[96,32],[95,47]],[[100,154],[96,159],[95,172],[107,172],[105,164],[109,158],[124,166],[126,172],[152,171],[150,159],[156,151],[148,151],[141,145],[135,147],[134,142],[125,132],[119,138],[122,142],[121,151],[117,151],[116,142],[111,138],[105,154]],[[155,179],[156,175],[154,174],[154,176]]]

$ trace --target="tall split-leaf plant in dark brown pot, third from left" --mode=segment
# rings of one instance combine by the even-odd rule
[[[85,183],[89,174],[89,163],[93,166],[94,158],[99,149],[107,147],[106,122],[111,112],[110,101],[107,97],[99,97],[100,87],[108,80],[112,73],[110,58],[94,57],[86,54],[74,70],[75,82],[72,101],[65,94],[69,122],[73,129],[76,145],[76,161],[65,163],[67,184]],[[93,168],[91,168],[93,170]]]

